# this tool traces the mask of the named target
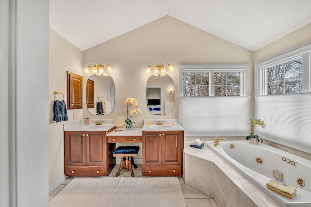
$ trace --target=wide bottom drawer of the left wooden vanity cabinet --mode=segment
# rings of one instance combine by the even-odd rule
[[[83,167],[67,167],[66,175],[68,176],[106,176],[105,166],[83,166]]]

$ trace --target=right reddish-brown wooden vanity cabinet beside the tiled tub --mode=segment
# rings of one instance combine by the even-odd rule
[[[143,131],[142,138],[142,175],[182,175],[184,131]]]

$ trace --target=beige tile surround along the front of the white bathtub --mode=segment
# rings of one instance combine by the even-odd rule
[[[208,147],[184,143],[185,184],[214,198],[219,207],[280,207]]]

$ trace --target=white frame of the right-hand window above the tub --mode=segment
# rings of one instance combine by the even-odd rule
[[[256,96],[276,96],[268,95],[268,68],[277,64],[292,61],[302,57],[302,93],[311,92],[311,43],[286,51],[271,58],[267,58],[255,63],[256,73]],[[282,94],[288,95],[288,94]],[[295,94],[291,94],[295,95]]]

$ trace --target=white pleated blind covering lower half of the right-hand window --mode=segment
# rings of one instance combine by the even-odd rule
[[[263,139],[311,153],[311,94],[255,96],[254,118]]]

